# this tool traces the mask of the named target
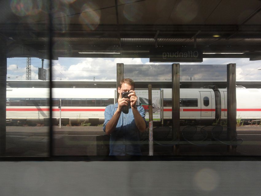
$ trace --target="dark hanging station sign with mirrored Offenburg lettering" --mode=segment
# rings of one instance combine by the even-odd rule
[[[199,49],[182,47],[180,49],[151,49],[150,62],[202,62],[203,52]]]

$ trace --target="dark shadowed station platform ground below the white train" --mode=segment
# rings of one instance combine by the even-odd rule
[[[103,127],[53,127],[53,153],[57,156],[107,156],[109,138]],[[184,127],[180,127],[181,130]],[[211,127],[209,127],[211,128]],[[205,128],[211,136],[211,130]],[[156,130],[156,129],[155,129]],[[169,132],[168,132],[169,131]],[[229,145],[216,140],[189,143],[172,142],[171,130],[154,132],[155,156],[260,156],[261,126],[237,127],[242,143],[229,150]],[[141,134],[142,155],[149,154],[148,132]],[[200,144],[200,145],[198,145]],[[201,145],[203,144],[203,145]],[[173,145],[178,147],[173,149]],[[6,127],[6,156],[49,156],[49,127]]]

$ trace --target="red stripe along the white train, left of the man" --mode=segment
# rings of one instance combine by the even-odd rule
[[[6,111],[50,111],[49,108],[6,108]],[[59,112],[60,109],[52,109]],[[105,109],[62,109],[62,112],[104,112]]]

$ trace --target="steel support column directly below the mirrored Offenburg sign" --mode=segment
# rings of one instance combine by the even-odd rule
[[[180,140],[180,73],[179,73],[179,63],[172,64],[172,139]],[[174,145],[174,151],[178,148]]]

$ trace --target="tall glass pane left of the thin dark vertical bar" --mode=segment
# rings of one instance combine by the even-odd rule
[[[4,156],[49,156],[49,1],[1,6],[1,35],[7,39]]]

